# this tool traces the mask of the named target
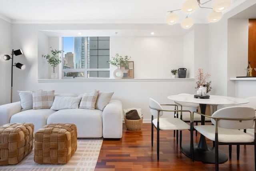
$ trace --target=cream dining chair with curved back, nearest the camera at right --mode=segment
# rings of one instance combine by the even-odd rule
[[[196,111],[193,112],[198,113]],[[203,115],[202,113],[198,113]],[[254,137],[240,129],[248,129],[256,121],[255,111],[252,107],[233,106],[215,111],[210,117],[213,125],[194,126],[198,132],[215,142],[215,170],[219,170],[218,145],[254,145],[254,165],[256,166],[256,128]],[[193,136],[192,136],[193,137]],[[193,141],[192,141],[193,143]],[[192,158],[194,146],[192,146]]]

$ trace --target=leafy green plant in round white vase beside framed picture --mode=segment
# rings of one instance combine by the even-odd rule
[[[109,64],[116,66],[116,69],[112,73],[114,78],[122,78],[124,76],[120,66],[126,66],[130,58],[127,55],[122,57],[116,54],[116,56],[112,57],[112,60],[107,61]]]

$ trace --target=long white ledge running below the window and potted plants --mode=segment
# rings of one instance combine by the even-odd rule
[[[172,82],[194,81],[194,78],[168,78],[168,79],[112,79],[112,78],[88,78],[88,79],[38,79],[38,82]]]

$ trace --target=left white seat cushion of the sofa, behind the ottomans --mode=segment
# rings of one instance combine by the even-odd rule
[[[56,111],[51,109],[25,110],[12,115],[10,123],[33,123],[35,126],[34,131],[37,131],[46,125],[47,118],[54,112]]]

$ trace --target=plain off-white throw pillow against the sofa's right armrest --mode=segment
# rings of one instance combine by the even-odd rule
[[[114,92],[99,92],[99,95],[95,104],[95,109],[99,109],[103,111],[103,109],[108,104],[113,94]]]

